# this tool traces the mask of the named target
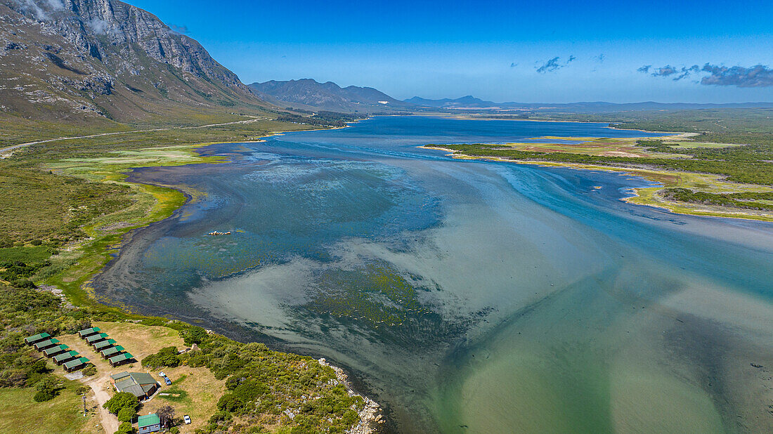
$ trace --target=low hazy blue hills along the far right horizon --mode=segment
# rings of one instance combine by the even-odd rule
[[[428,100],[421,97],[413,97],[405,100],[406,103],[415,104],[418,107],[457,109],[457,110],[527,110],[527,111],[571,111],[587,113],[603,113],[626,110],[690,110],[709,108],[769,108],[773,103],[724,103],[724,104],[700,104],[700,103],[656,103],[652,101],[643,103],[605,103],[605,102],[581,102],[581,103],[495,103],[481,100],[468,95],[466,97],[441,100]]]

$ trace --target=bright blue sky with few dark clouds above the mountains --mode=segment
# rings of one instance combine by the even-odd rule
[[[399,99],[773,101],[770,0],[129,2],[244,83],[313,78]]]

